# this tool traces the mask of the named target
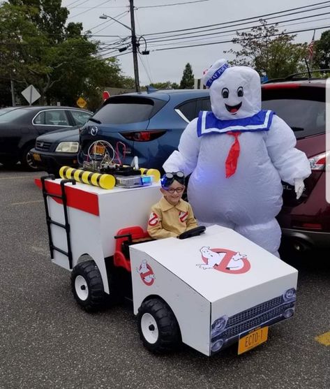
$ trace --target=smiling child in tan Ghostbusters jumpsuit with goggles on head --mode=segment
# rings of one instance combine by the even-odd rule
[[[185,177],[182,172],[166,173],[161,179],[163,198],[153,205],[147,231],[153,239],[177,237],[186,230],[197,227],[193,210],[182,200]]]

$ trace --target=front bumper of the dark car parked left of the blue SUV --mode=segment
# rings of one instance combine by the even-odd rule
[[[36,166],[47,172],[58,172],[62,166],[78,167],[77,154],[75,153],[40,152],[32,149],[31,154]]]

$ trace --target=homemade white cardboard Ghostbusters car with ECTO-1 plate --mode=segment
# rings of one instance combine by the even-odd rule
[[[36,179],[52,262],[70,270],[75,300],[87,311],[133,298],[149,351],[183,342],[211,355],[238,342],[243,353],[294,314],[297,270],[234,230],[201,227],[188,239],[150,240],[158,183],[106,190],[53,178]]]

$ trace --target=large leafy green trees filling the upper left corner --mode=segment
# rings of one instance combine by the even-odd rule
[[[29,85],[38,104],[102,102],[100,87],[123,87],[117,59],[97,57],[99,43],[70,22],[61,0],[9,0],[0,6],[0,72],[13,79],[17,96]],[[90,96],[90,97],[89,97]]]

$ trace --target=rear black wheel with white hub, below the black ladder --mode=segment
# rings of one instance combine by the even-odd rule
[[[100,271],[93,260],[78,263],[71,272],[71,288],[85,311],[102,309],[107,302]]]

